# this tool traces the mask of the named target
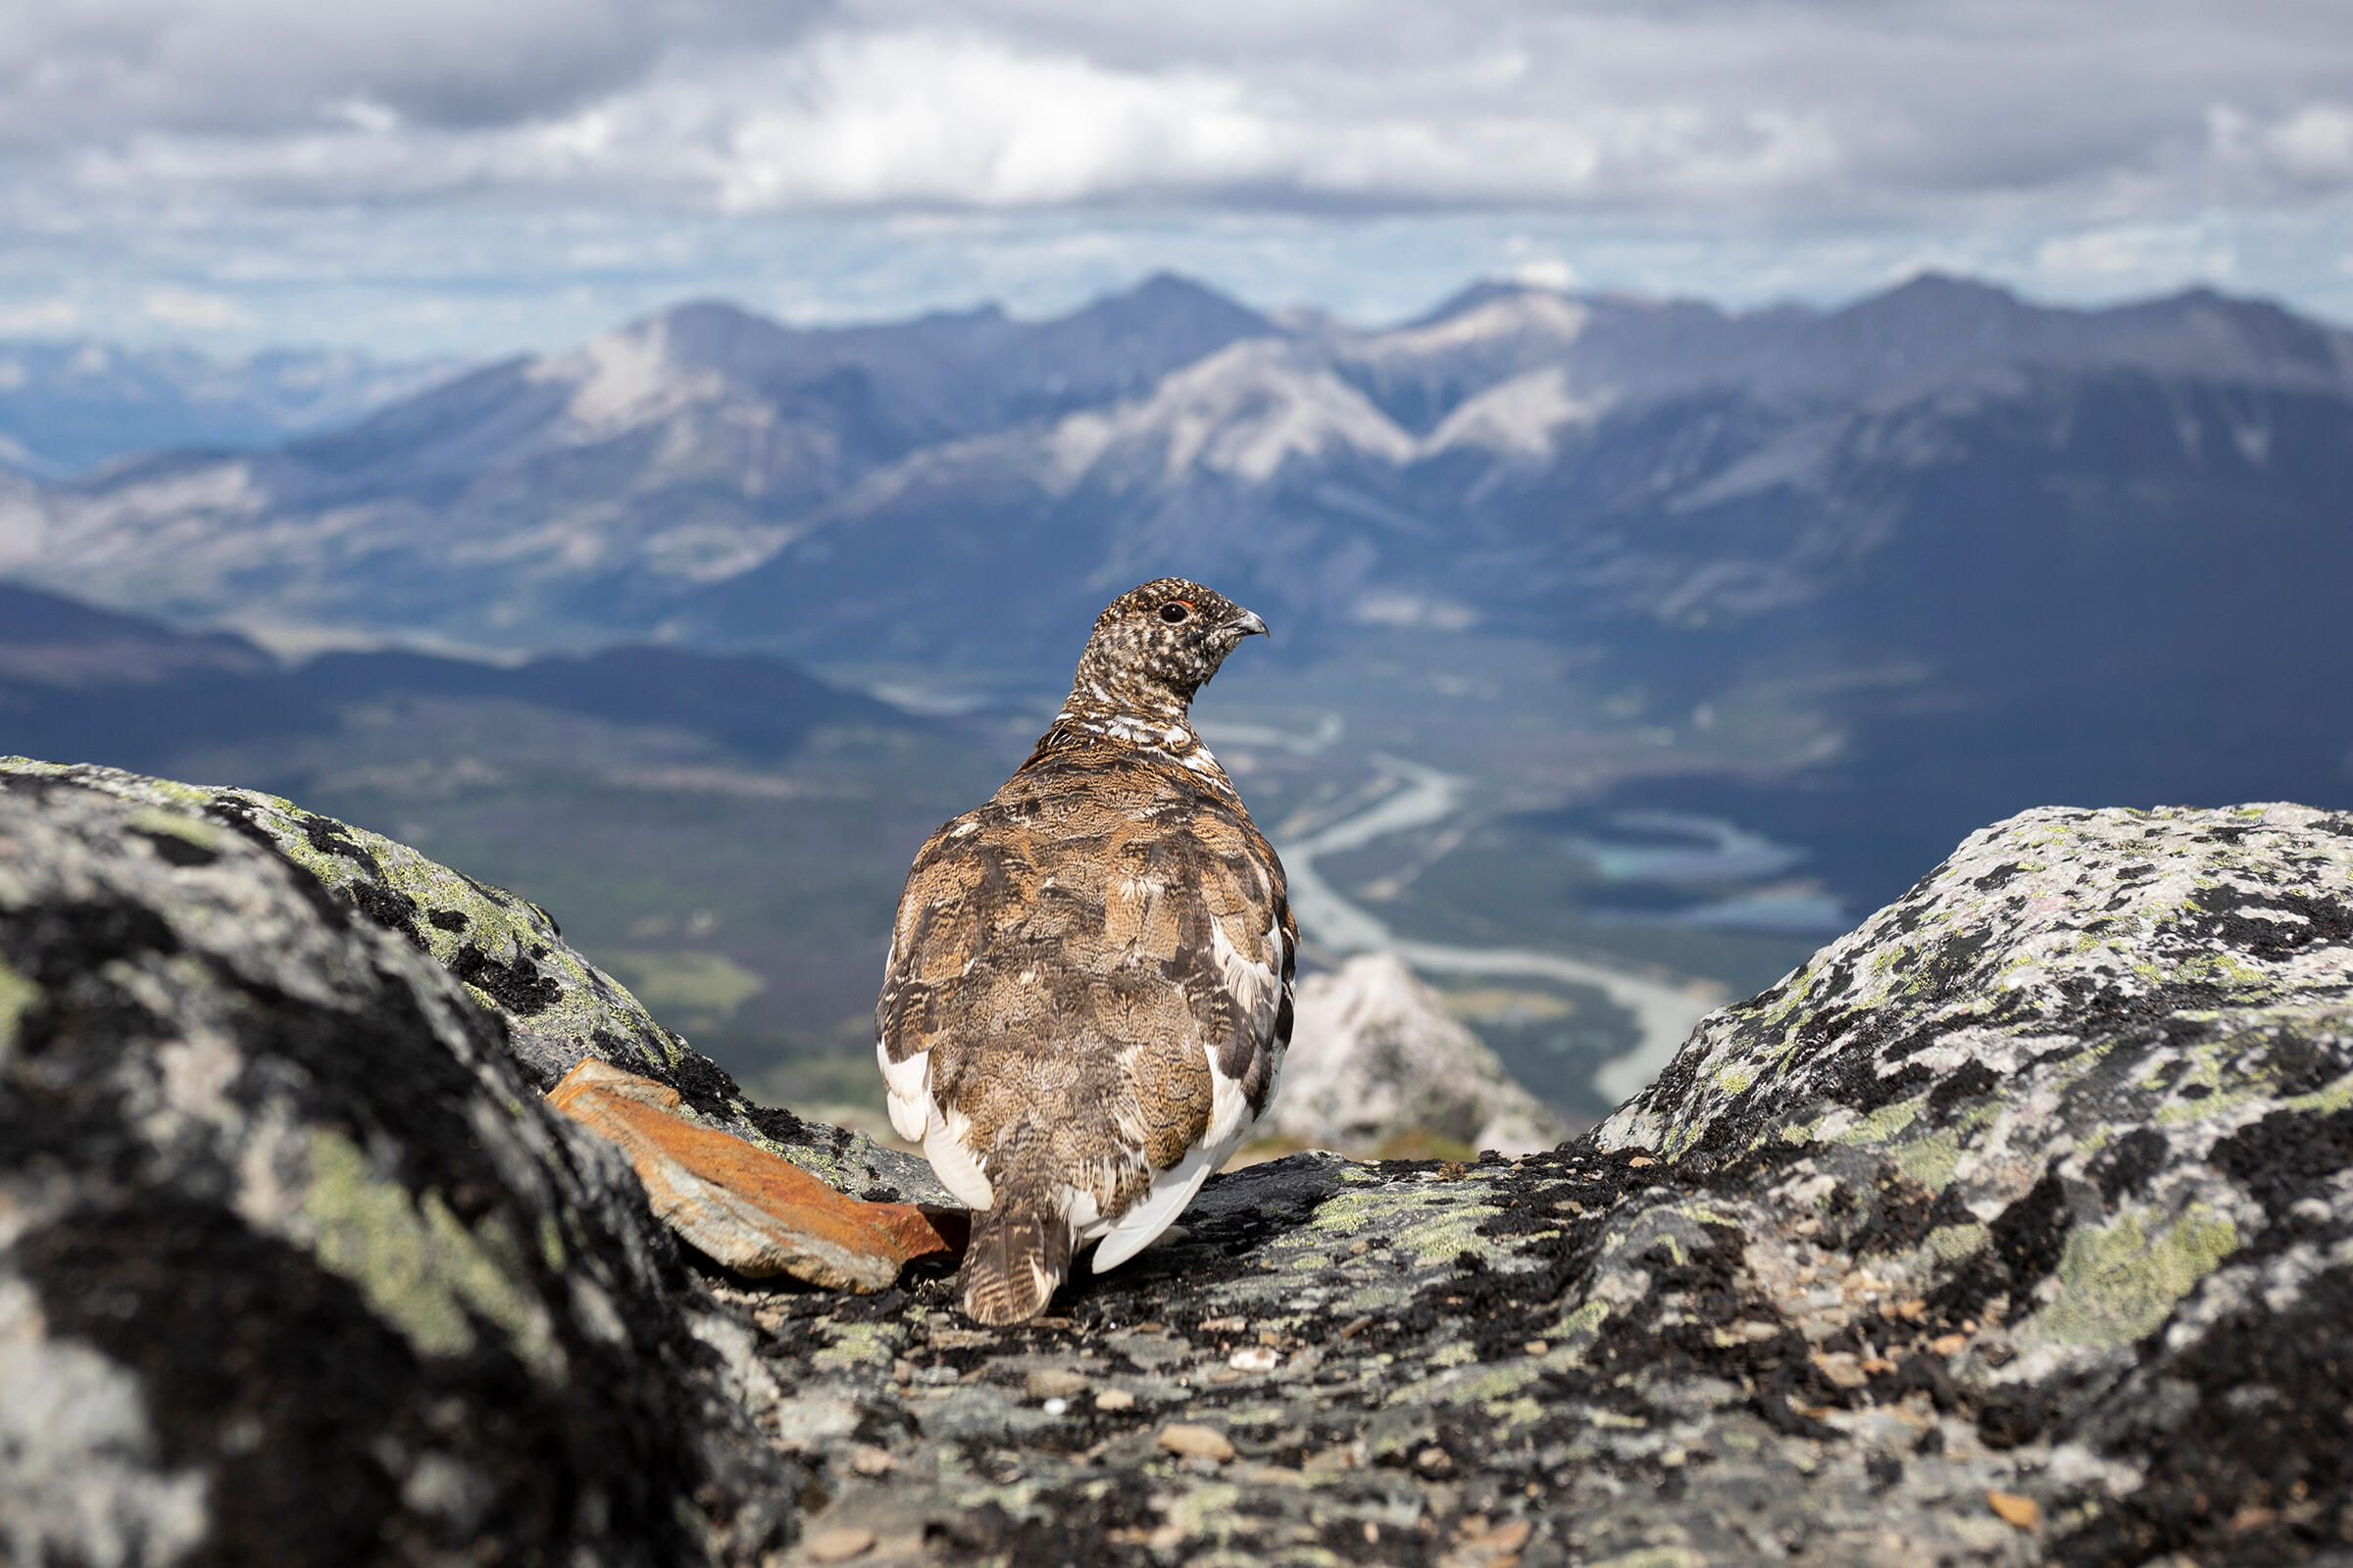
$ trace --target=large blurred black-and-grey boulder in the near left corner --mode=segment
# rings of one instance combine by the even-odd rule
[[[758,1561],[732,1328],[440,966],[0,773],[0,1561]]]

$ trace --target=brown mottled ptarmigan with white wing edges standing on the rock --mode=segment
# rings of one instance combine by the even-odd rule
[[[1266,623],[1184,578],[1106,609],[1031,759],[915,856],[875,1004],[892,1124],[974,1208],[965,1312],[1045,1309],[1233,1154],[1292,1034],[1282,863],[1188,722]]]

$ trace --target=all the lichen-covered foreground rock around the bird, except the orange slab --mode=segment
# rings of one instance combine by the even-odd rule
[[[734,1276],[581,1060],[861,1199],[520,898],[0,764],[14,1563],[2353,1563],[2353,816],[2031,811],[1588,1138],[1304,1152],[981,1331]]]

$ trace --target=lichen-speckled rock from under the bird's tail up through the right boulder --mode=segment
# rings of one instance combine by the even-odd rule
[[[734,1300],[861,1561],[2346,1563],[2348,987],[2353,818],[2035,811],[1595,1138],[1240,1171],[1016,1331]]]

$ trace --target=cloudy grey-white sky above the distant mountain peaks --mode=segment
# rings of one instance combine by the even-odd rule
[[[0,336],[1922,266],[2353,320],[2346,0],[0,0]]]

